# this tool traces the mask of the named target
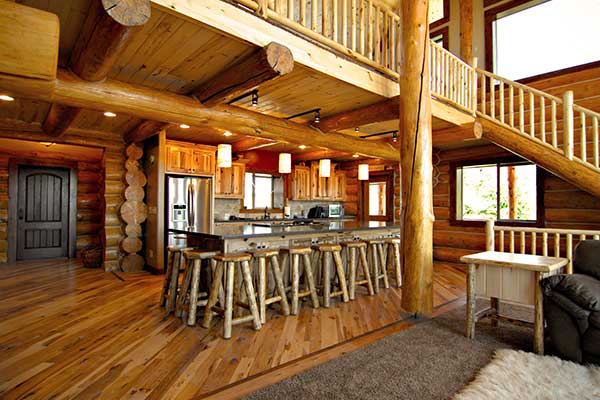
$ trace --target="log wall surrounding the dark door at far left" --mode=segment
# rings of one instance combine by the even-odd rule
[[[0,131],[0,137],[47,141],[35,132]],[[104,269],[118,270],[122,258],[119,242],[124,227],[119,217],[123,202],[125,174],[125,143],[118,134],[93,131],[68,131],[61,143],[94,146],[103,149],[101,160],[82,160],[81,157],[61,156],[61,160],[76,162],[77,174],[77,250],[89,244],[102,243]],[[15,154],[0,152],[0,263],[8,261],[8,162]],[[26,157],[25,157],[26,158]],[[40,152],[38,160],[53,157]]]

